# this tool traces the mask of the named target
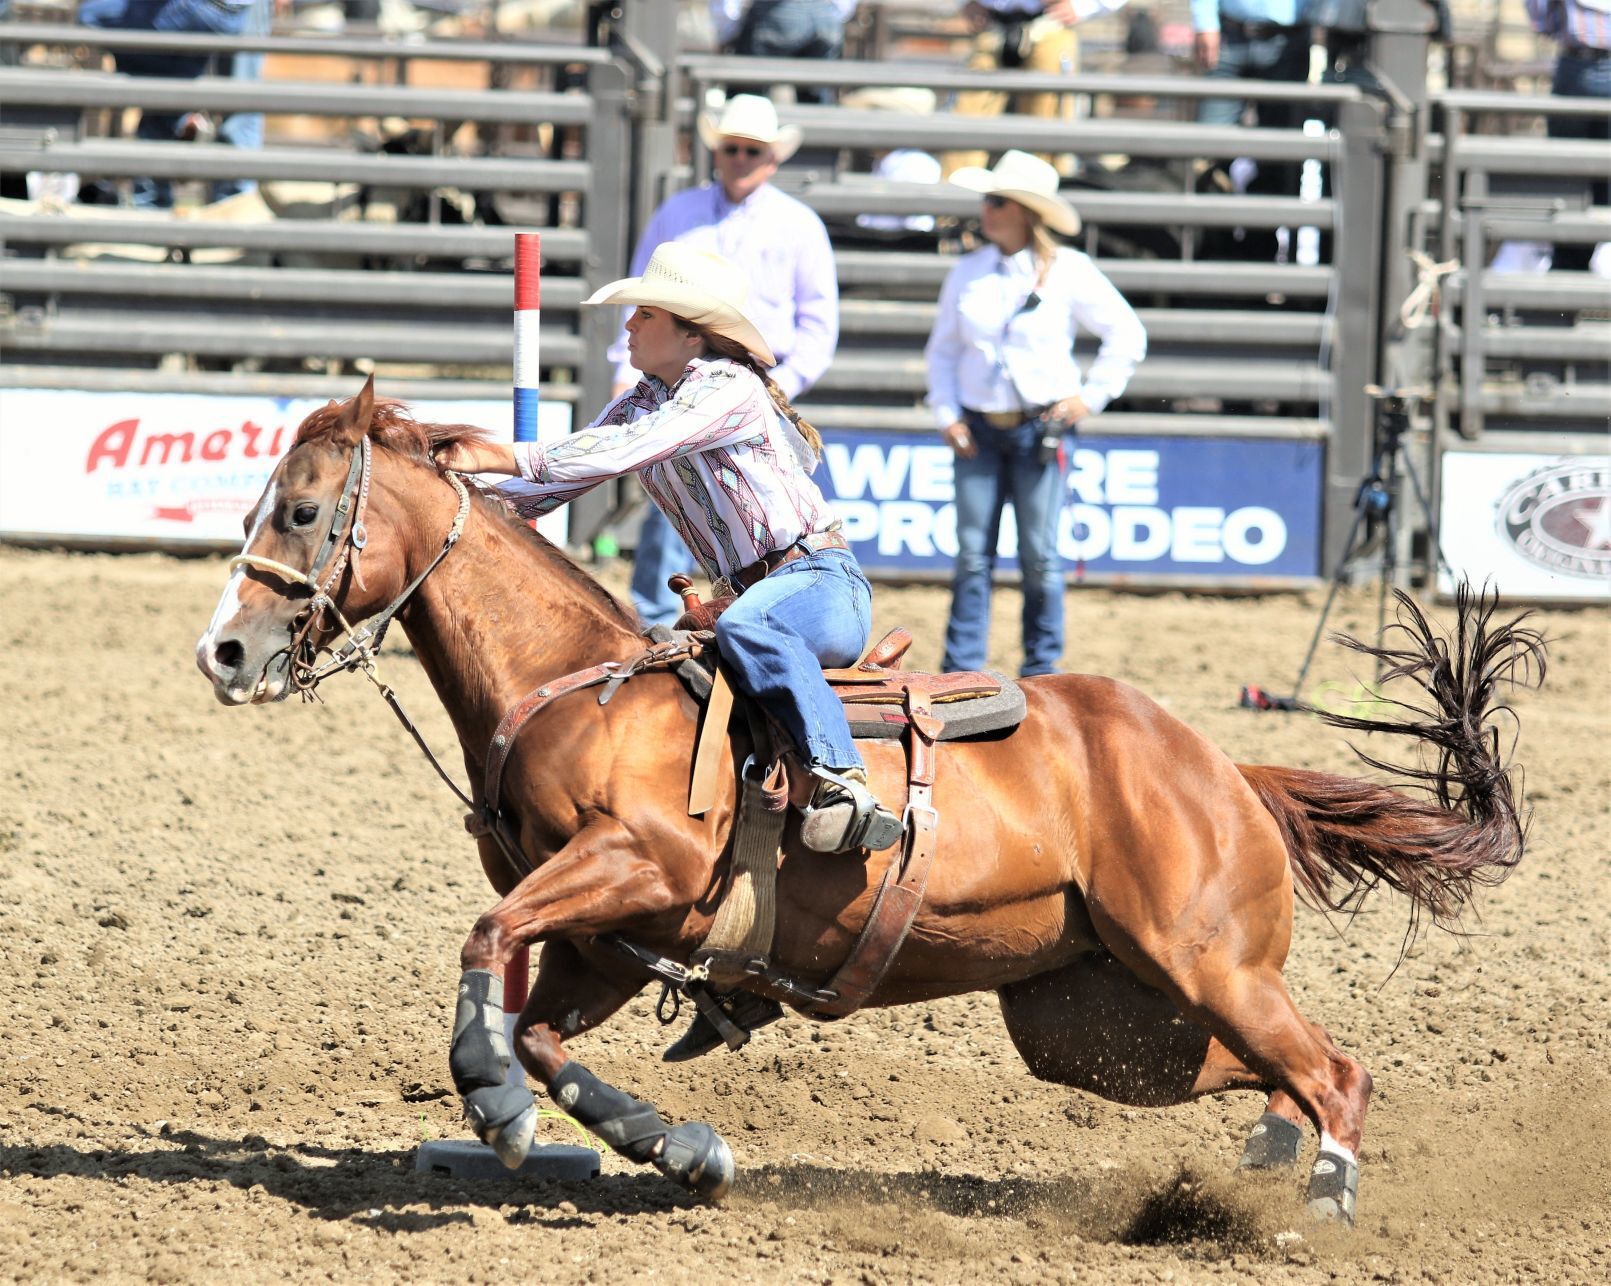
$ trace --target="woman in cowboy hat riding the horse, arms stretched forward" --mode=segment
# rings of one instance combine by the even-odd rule
[[[872,588],[810,480],[822,438],[767,374],[773,356],[744,314],[748,293],[722,256],[664,243],[643,276],[586,300],[633,305],[633,390],[564,442],[459,445],[443,463],[519,474],[503,492],[525,517],[636,474],[719,591],[738,595],[717,641],[738,687],[818,778],[802,841],[820,852],[889,848],[901,822],[867,790],[844,706],[822,677],[867,646]]]

